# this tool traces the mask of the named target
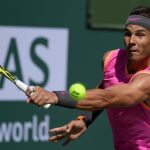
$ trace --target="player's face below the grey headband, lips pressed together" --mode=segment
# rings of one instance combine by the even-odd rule
[[[130,24],[126,26],[124,33],[129,60],[150,62],[150,30]]]

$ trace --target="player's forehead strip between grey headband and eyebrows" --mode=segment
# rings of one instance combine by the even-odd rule
[[[139,25],[134,25],[134,24],[129,24],[125,27],[125,31],[129,30],[129,31],[145,31],[145,32],[150,32],[149,29],[143,27],[143,26],[139,26]]]

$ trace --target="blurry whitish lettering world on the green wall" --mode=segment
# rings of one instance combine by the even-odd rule
[[[34,142],[48,141],[48,130],[50,128],[50,117],[44,116],[43,121],[38,121],[36,115],[29,122],[2,122],[0,123],[0,143],[1,142]]]

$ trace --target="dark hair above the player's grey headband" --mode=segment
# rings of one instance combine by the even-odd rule
[[[138,6],[136,8],[134,8],[130,15],[142,15],[144,17],[150,18],[150,7],[148,6]]]

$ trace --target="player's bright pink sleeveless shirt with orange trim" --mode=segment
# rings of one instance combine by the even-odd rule
[[[117,49],[104,62],[103,88],[131,82],[139,73],[150,73],[150,67],[129,75],[127,52]],[[150,108],[143,102],[128,108],[107,109],[116,150],[150,150]]]

